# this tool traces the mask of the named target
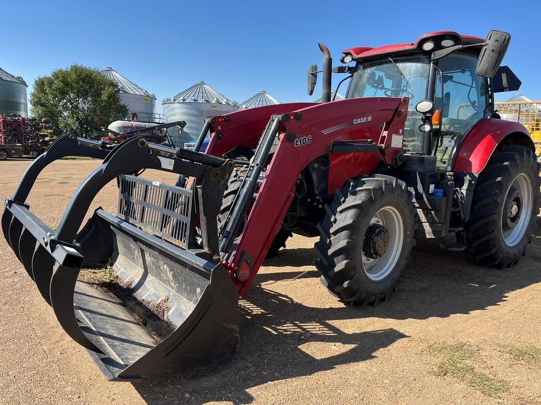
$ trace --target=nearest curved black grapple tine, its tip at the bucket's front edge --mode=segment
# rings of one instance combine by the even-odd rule
[[[55,267],[56,269],[52,274],[50,283],[50,299],[52,309],[55,311],[56,319],[60,325],[62,325],[65,332],[70,335],[71,339],[93,352],[103,354],[103,352],[98,349],[87,336],[85,336],[75,317],[73,300],[79,269],[58,263]]]

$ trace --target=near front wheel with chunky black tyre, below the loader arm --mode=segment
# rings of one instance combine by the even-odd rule
[[[350,179],[335,194],[318,225],[315,266],[341,301],[375,305],[395,291],[415,244],[412,194],[403,181],[379,174]]]

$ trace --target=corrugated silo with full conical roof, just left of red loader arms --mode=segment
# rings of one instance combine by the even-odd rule
[[[162,106],[163,114],[169,122],[186,121],[182,132],[179,127],[170,129],[175,146],[181,147],[199,137],[204,117],[218,116],[239,109],[238,103],[229,100],[204,82],[197,82],[176,96],[164,99]]]

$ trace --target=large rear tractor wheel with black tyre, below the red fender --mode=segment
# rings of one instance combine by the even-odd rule
[[[522,145],[503,145],[479,174],[465,223],[466,257],[481,266],[517,264],[539,213],[539,164]]]

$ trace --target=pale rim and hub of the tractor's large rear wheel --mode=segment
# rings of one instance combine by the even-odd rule
[[[524,237],[530,224],[532,204],[532,183],[526,173],[520,173],[505,193],[502,236],[507,246],[516,246]]]

